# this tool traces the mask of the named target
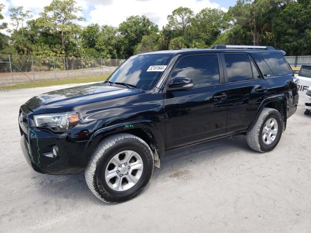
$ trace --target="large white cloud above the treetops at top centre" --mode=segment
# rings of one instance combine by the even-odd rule
[[[166,17],[179,6],[189,7],[194,13],[206,7],[220,8],[219,4],[209,0],[110,0],[110,4],[106,5],[96,4],[99,0],[92,1],[95,9],[90,12],[87,21],[116,27],[127,17],[145,15],[161,28],[167,24]]]

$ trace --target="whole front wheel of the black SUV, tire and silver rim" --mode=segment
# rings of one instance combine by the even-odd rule
[[[86,183],[100,200],[118,203],[136,197],[149,182],[154,158],[148,144],[128,133],[105,138],[86,167]]]

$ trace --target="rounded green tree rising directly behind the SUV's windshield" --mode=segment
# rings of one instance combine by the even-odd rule
[[[144,35],[158,32],[158,26],[145,16],[131,16],[119,26],[123,40],[123,54],[133,55],[138,43]]]

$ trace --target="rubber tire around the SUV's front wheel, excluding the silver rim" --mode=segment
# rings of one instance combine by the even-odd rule
[[[117,192],[111,189],[102,179],[107,163],[118,152],[133,150],[143,160],[142,175],[132,188]],[[108,203],[120,203],[136,197],[147,185],[154,169],[153,153],[148,144],[141,138],[129,133],[117,133],[101,141],[93,153],[85,170],[88,188],[99,199]]]

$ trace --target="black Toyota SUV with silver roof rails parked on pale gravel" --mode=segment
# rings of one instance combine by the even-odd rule
[[[166,150],[237,133],[253,150],[273,150],[298,103],[283,55],[219,45],[132,56],[103,83],[28,100],[21,148],[37,172],[84,171],[106,202],[137,196]]]

